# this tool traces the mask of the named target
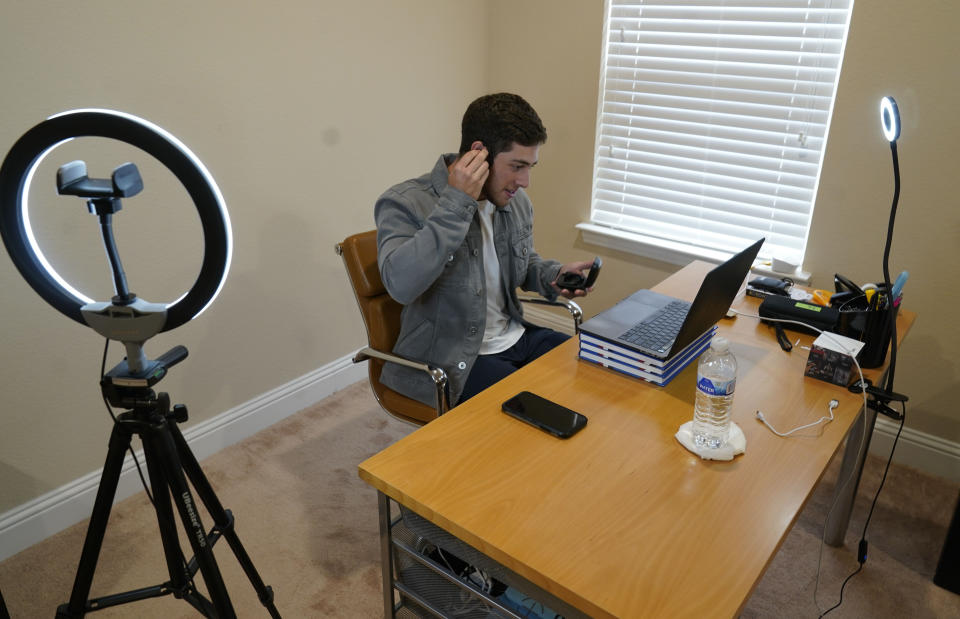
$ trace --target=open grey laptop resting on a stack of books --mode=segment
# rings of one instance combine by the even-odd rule
[[[727,313],[764,240],[707,273],[693,303],[639,290],[581,324],[581,333],[654,359],[669,359]]]

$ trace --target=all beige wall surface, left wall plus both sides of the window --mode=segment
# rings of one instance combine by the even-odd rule
[[[538,246],[550,257],[604,257],[588,314],[675,269],[587,245],[574,229],[589,216],[602,9],[602,0],[5,5],[0,151],[50,114],[101,106],[156,122],[210,168],[233,219],[230,278],[207,313],[147,344],[151,356],[190,349],[161,387],[195,423],[361,344],[333,245],[372,227],[383,188],[456,148],[463,107],[485,91],[522,93],[547,125],[531,187]],[[911,427],[951,441],[960,441],[950,399],[960,336],[948,321],[960,233],[948,186],[958,18],[948,0],[857,4],[807,260],[821,286],[834,271],[879,277],[892,180],[876,108],[894,95],[904,184],[891,262],[911,271],[906,305],[920,312],[897,388],[911,396]],[[92,171],[107,175],[119,156]],[[166,200],[145,192],[117,216],[131,287],[152,301],[182,291],[198,251],[189,206],[170,191]],[[99,290],[94,220],[66,198],[50,201],[51,258]],[[100,467],[109,423],[97,386],[102,340],[47,306],[6,258],[0,282],[2,513]],[[110,363],[119,356],[114,347]]]

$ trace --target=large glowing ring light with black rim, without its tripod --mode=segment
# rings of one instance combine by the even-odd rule
[[[112,110],[83,109],[51,116],[27,131],[0,167],[0,234],[27,283],[68,317],[87,324],[80,308],[92,300],[70,286],[51,266],[30,226],[28,198],[33,175],[43,158],[74,137],[104,137],[126,142],[165,165],[193,199],[203,228],[203,262],[193,286],[166,305],[160,331],[199,316],[226,281],[233,251],[230,216],[223,196],[203,163],[176,137],[136,116]]]

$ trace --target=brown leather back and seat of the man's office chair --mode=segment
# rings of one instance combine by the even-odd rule
[[[392,352],[400,335],[403,306],[393,300],[380,279],[377,265],[377,231],[369,230],[347,237],[337,245],[337,253],[350,278],[360,315],[367,330],[367,344],[382,352]],[[403,396],[380,382],[383,361],[369,360],[369,378],[373,393],[391,415],[422,425],[437,418],[435,408]]]

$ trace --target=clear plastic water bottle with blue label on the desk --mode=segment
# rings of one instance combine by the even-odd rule
[[[725,337],[714,337],[697,365],[693,441],[697,447],[723,447],[730,434],[730,407],[737,385],[737,359]]]

